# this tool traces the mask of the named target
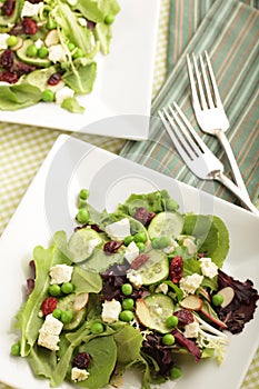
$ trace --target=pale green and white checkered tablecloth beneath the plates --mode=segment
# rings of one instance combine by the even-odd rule
[[[249,0],[248,0],[249,1]],[[255,1],[249,1],[252,6]],[[170,0],[161,0],[153,74],[155,97],[167,76]],[[57,138],[66,131],[0,122],[0,236]],[[119,153],[124,140],[80,134],[79,138]],[[0,383],[0,388],[8,388]],[[259,388],[259,352],[242,389]],[[231,388],[236,389],[236,388]]]

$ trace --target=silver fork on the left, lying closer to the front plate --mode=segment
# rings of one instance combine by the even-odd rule
[[[253,206],[250,199],[223,173],[223,164],[198,136],[178,104],[173,102],[173,106],[176,110],[169,106],[168,109],[163,108],[163,110],[158,111],[158,113],[179,154],[189,169],[202,180],[220,181],[235,193],[250,211],[259,216],[259,210]]]

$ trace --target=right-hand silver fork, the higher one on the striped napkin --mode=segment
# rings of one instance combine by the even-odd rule
[[[243,179],[238,168],[238,163],[236,161],[231,146],[228,141],[228,138],[225,134],[225,132],[228,130],[230,124],[220,99],[218,86],[213,74],[213,69],[207,51],[205,51],[205,58],[207,62],[207,70],[206,70],[202,56],[199,54],[199,62],[200,62],[200,70],[201,70],[201,76],[200,76],[196,56],[192,53],[192,62],[193,62],[193,67],[192,67],[190,57],[187,54],[187,67],[188,67],[188,73],[190,79],[192,107],[195,110],[195,114],[201,130],[203,132],[216,136],[219,139],[228,157],[236,183],[243,192],[243,196],[249,198],[247,188],[245,186]],[[196,84],[195,78],[197,80],[197,84]]]

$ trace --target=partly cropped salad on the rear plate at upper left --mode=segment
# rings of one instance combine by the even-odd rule
[[[39,101],[82,113],[98,52],[109,53],[117,0],[0,1],[0,109]]]

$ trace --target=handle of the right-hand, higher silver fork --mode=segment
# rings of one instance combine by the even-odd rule
[[[223,147],[223,149],[226,151],[226,154],[228,157],[229,164],[232,169],[235,181],[236,181],[237,186],[240,188],[240,190],[243,192],[243,194],[250,200],[250,197],[248,194],[247,188],[245,186],[242,176],[240,173],[237,160],[235,158],[235,154],[233,154],[233,151],[231,149],[231,146],[229,143],[228,138],[226,137],[226,134],[222,130],[216,130],[215,134],[217,136],[217,138],[219,139],[221,146]]]

